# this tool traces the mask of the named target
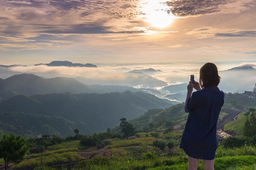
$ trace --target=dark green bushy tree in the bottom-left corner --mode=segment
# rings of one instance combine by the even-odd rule
[[[26,140],[20,136],[3,134],[0,141],[0,158],[4,158],[4,168],[7,169],[11,162],[21,162],[28,150],[29,147],[26,145]]]

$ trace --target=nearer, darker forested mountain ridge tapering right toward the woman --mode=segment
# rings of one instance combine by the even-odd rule
[[[105,94],[52,93],[48,95],[18,95],[0,102],[0,127],[5,132],[38,136],[48,134],[67,136],[72,134],[71,128],[79,128],[84,134],[105,131],[117,125],[121,118],[132,119],[153,108],[168,108],[172,104],[168,100],[142,92],[123,92]],[[35,129],[29,127],[29,120]],[[51,123],[49,123],[49,119]],[[61,127],[54,126],[57,122]],[[65,122],[65,123],[64,123]],[[45,128],[42,128],[45,127]],[[43,130],[44,129],[44,130]],[[68,131],[65,131],[69,129]]]

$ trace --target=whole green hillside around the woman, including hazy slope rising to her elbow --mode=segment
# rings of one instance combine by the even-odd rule
[[[225,105],[221,111],[220,121],[225,121],[227,116],[232,114],[232,108],[226,108],[227,106],[229,105]],[[135,134],[129,138],[121,137],[119,126],[91,136],[79,133],[64,138],[30,138],[30,148],[43,144],[46,146],[44,151],[42,154],[30,153],[28,159],[14,166],[15,169],[52,170],[187,169],[188,158],[183,150],[179,149],[187,116],[183,111],[183,104],[167,109],[151,109],[141,117],[129,121],[136,127]],[[241,117],[245,117],[244,112]],[[256,136],[224,139],[216,152],[215,169],[255,169],[255,145]],[[33,150],[31,152],[35,152],[35,149]],[[198,169],[203,169],[202,162],[199,163]]]

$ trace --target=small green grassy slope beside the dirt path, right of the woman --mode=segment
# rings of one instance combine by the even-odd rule
[[[243,126],[245,124],[245,121],[245,113],[239,114],[238,119],[224,125],[224,131],[234,131],[236,133],[236,136],[241,137],[243,135]]]

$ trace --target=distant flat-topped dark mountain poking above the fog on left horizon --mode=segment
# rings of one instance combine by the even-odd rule
[[[47,65],[50,67],[58,67],[58,66],[65,66],[65,67],[97,67],[93,64],[80,64],[80,63],[72,63],[70,61],[52,61],[49,64],[36,64],[36,65]]]

